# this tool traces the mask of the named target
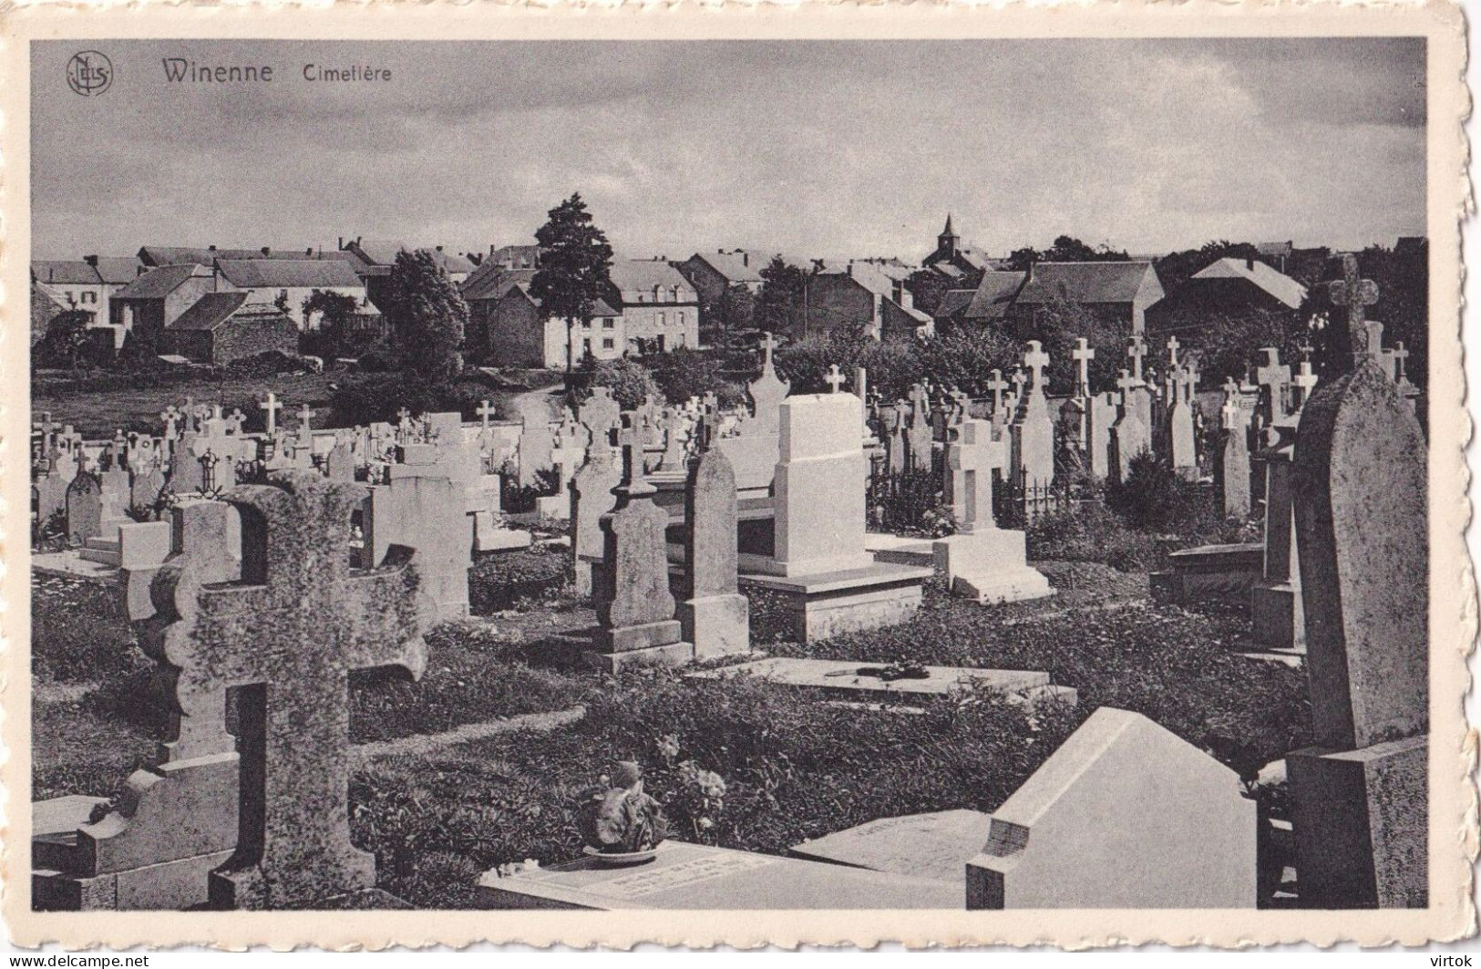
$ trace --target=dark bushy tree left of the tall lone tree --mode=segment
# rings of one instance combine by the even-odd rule
[[[387,282],[390,305],[382,310],[401,372],[427,384],[458,376],[468,326],[468,304],[458,286],[425,249],[397,253]]]

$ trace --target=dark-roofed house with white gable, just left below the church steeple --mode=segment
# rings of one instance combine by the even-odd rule
[[[841,270],[823,267],[807,279],[804,333],[852,327],[874,339],[930,336],[935,322],[915,308],[903,280],[878,267],[850,261]]]

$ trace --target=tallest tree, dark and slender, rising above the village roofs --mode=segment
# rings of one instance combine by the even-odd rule
[[[569,347],[575,327],[591,323],[597,301],[610,295],[612,246],[592,222],[579,191],[546,216],[545,225],[535,233],[541,268],[530,280],[530,295],[545,314],[566,320]],[[570,359],[566,369],[573,369]]]

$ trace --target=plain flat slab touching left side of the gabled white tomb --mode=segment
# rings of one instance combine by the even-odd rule
[[[992,815],[967,808],[880,818],[792,846],[812,861],[961,885],[988,843]]]

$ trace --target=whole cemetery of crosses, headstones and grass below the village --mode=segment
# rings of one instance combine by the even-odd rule
[[[1423,399],[1339,268],[1222,387],[37,407],[34,905],[1422,907]]]

